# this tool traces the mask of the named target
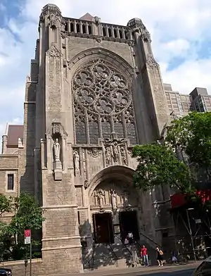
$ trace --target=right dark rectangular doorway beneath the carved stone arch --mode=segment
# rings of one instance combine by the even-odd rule
[[[136,211],[122,211],[119,214],[120,233],[122,241],[127,237],[128,232],[132,232],[134,240],[139,240],[139,226]]]

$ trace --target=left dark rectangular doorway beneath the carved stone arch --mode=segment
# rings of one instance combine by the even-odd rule
[[[94,238],[96,244],[113,244],[113,222],[111,213],[93,215]]]

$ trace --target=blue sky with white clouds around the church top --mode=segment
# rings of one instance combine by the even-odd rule
[[[48,3],[70,18],[88,12],[120,25],[141,18],[151,33],[163,82],[184,94],[195,87],[211,94],[210,0],[0,0],[0,135],[6,123],[23,123],[25,80],[41,8]]]

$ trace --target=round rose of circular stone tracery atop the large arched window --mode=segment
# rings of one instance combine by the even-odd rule
[[[89,112],[117,115],[132,101],[127,80],[105,61],[90,62],[73,79],[75,102]]]

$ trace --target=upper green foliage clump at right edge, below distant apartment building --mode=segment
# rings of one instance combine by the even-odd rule
[[[174,120],[168,128],[166,142],[178,146],[188,155],[191,163],[201,168],[211,166],[211,113],[189,113]]]

